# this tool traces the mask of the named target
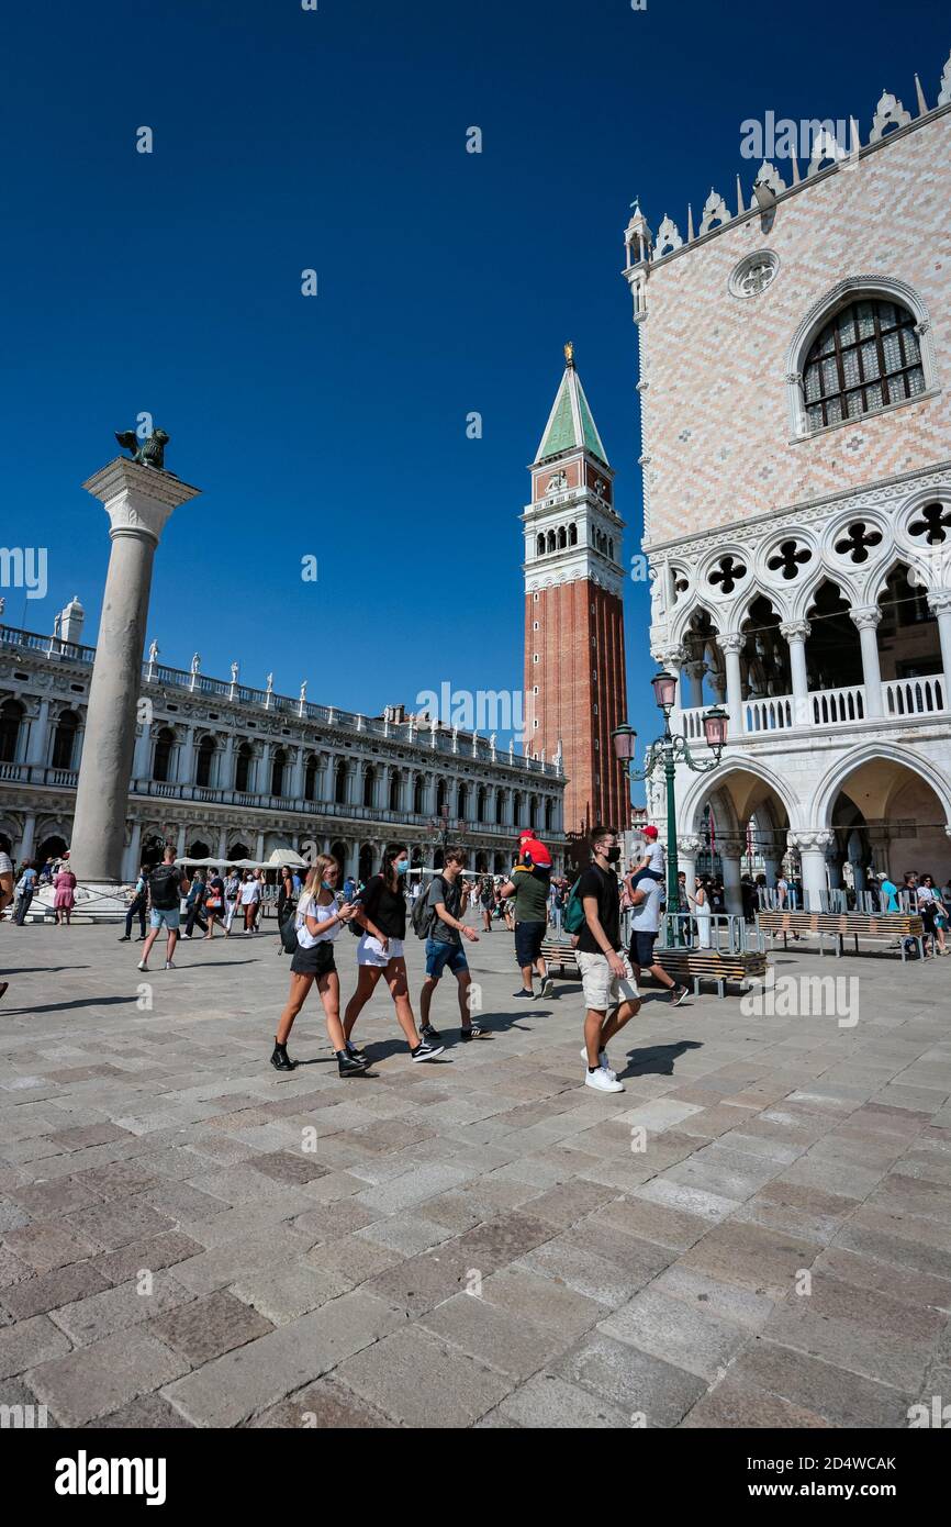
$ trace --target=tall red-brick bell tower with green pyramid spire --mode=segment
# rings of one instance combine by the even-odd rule
[[[565,832],[630,825],[611,733],[626,719],[624,522],[585,389],[565,376],[531,466],[525,527],[525,753],[563,757]]]

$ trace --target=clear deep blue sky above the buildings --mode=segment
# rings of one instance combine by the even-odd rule
[[[640,542],[629,203],[684,231],[711,183],[750,191],[745,118],[855,113],[866,139],[916,69],[934,104],[949,43],[934,0],[9,9],[0,539],[47,545],[49,597],[24,620],[8,591],[6,620],[49,631],[76,592],[95,641],[107,519],[79,484],[145,409],[203,490],[156,562],[163,661],[366,713],[519,689],[517,515],[568,337]],[[653,734],[643,585],[626,620]]]

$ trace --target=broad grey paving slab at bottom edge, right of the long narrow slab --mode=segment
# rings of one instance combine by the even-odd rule
[[[405,1426],[469,1426],[513,1387],[418,1325],[340,1364],[337,1377]]]

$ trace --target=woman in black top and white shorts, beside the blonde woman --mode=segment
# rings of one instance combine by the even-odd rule
[[[383,976],[397,1009],[398,1025],[409,1044],[411,1060],[418,1061],[441,1055],[444,1046],[427,1038],[426,1032],[420,1038],[409,1002],[406,959],[403,954],[403,939],[406,938],[406,896],[403,895],[403,886],[406,884],[408,873],[409,849],[405,843],[391,843],[383,854],[380,873],[372,875],[356,898],[357,910],[354,922],[363,928],[363,933],[357,944],[357,989],[347,1003],[343,1032],[350,1043],[354,1025],[372,997],[380,976]]]

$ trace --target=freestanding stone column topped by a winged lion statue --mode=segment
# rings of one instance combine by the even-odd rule
[[[127,435],[121,444],[139,460],[118,457],[82,484],[104,505],[111,538],[70,846],[76,907],[89,902],[82,912],[93,919],[125,915],[122,847],[153,560],[172,510],[200,493],[163,469],[166,440],[156,431],[142,446]],[[150,450],[153,441],[157,450]],[[145,464],[156,458],[159,464]]]

